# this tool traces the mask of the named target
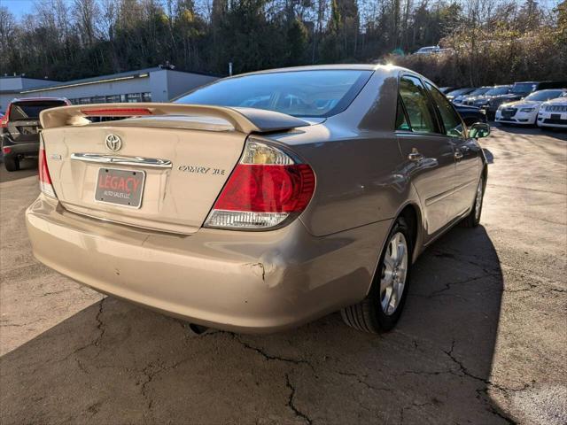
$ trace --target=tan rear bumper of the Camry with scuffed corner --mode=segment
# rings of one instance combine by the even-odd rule
[[[68,213],[41,195],[27,209],[35,257],[89,287],[213,328],[296,327],[366,296],[390,221],[332,236],[300,220],[271,232],[174,236]]]

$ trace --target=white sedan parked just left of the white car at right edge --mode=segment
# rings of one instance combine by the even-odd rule
[[[538,121],[540,107],[548,100],[561,97],[567,89],[548,89],[533,92],[516,102],[501,104],[496,111],[494,120],[503,124],[523,124],[533,126]],[[539,122],[538,122],[539,123]]]

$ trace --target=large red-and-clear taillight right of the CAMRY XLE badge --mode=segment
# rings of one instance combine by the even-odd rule
[[[310,166],[274,146],[249,139],[205,226],[280,227],[306,209],[314,191],[315,174]]]

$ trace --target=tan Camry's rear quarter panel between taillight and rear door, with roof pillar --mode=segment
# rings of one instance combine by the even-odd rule
[[[315,195],[300,218],[311,234],[391,219],[408,198],[393,132],[396,75],[396,70],[377,71],[345,112],[276,137],[315,171]]]

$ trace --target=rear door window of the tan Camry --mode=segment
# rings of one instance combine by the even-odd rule
[[[416,77],[401,77],[400,97],[408,112],[412,131],[415,133],[437,132],[431,101],[422,81]]]

